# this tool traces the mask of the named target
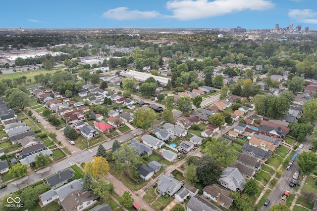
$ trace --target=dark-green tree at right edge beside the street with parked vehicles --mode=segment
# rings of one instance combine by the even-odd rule
[[[317,155],[313,152],[302,152],[298,155],[297,164],[304,175],[309,175],[317,167]]]

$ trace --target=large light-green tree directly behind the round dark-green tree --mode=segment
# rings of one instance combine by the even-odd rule
[[[209,155],[212,159],[223,166],[233,164],[237,159],[238,152],[228,142],[220,138],[206,138],[206,144],[202,149],[203,153]]]

